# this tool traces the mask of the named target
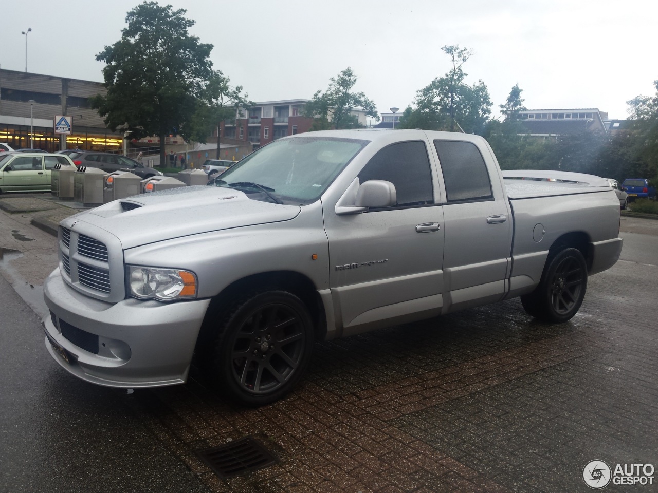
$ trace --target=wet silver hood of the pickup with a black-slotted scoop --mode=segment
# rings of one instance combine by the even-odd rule
[[[62,222],[93,224],[120,239],[123,248],[240,226],[288,221],[301,210],[252,200],[222,187],[180,187],[114,200]]]

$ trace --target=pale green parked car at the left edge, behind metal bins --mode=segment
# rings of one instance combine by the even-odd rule
[[[55,164],[75,166],[64,154],[0,154],[0,192],[50,191],[51,170]]]

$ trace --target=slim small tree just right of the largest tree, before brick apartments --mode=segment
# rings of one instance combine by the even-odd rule
[[[242,94],[242,86],[232,86],[228,76],[220,70],[213,70],[208,81],[199,93],[199,104],[194,116],[191,138],[205,143],[207,136],[217,130],[217,154],[220,154],[220,124],[222,122],[235,124],[239,108],[247,109],[254,103]]]

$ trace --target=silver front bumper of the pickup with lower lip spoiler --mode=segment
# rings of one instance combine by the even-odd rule
[[[43,284],[43,296],[51,312],[43,319],[45,344],[55,361],[85,381],[122,388],[185,383],[210,302],[107,303],[69,287],[59,269]]]

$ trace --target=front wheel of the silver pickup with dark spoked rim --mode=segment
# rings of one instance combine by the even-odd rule
[[[305,304],[287,291],[265,291],[228,310],[210,366],[233,400],[263,406],[292,390],[312,351],[313,322]]]

